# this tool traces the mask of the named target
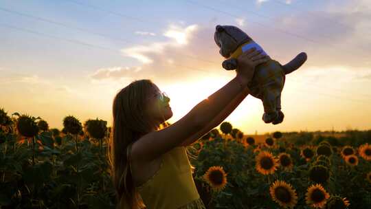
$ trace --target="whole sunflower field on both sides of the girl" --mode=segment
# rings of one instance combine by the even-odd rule
[[[0,208],[115,208],[106,121],[63,129],[0,109]],[[371,208],[371,131],[276,131],[258,141],[223,122],[188,146],[207,208]]]

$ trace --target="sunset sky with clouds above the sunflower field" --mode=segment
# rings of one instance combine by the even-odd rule
[[[221,67],[216,25],[235,25],[282,65],[281,124],[247,96],[225,119],[244,133],[371,129],[369,0],[0,1],[0,107],[41,117],[112,122],[113,98],[150,79],[174,123],[236,75]]]

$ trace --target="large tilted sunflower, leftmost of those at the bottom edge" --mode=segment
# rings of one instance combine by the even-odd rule
[[[297,195],[290,184],[277,180],[269,188],[273,201],[283,208],[293,208],[297,203]]]

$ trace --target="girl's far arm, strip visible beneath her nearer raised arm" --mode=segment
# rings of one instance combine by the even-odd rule
[[[201,129],[201,131],[195,133],[194,135],[189,137],[187,140],[183,141],[183,143],[180,144],[179,146],[188,146],[196,142],[197,140],[199,140],[200,137],[202,137],[203,135],[205,135],[206,133],[214,129],[216,126],[221,124],[221,122],[223,122],[225,118],[227,118],[228,115],[230,115],[230,113],[232,113],[232,111],[236,109],[238,104],[240,104],[240,102],[242,102],[246,98],[247,95],[249,95],[249,89],[245,88],[244,91],[241,91],[233,100],[229,102],[229,104],[227,104],[227,106],[225,106],[225,108],[223,109],[223,111],[221,111],[221,113],[216,115],[216,117],[212,121],[210,121],[210,123],[204,126],[203,129]]]

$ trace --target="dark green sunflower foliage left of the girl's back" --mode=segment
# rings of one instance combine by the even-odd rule
[[[16,125],[10,128],[0,129],[6,143],[0,146],[0,208],[115,208],[109,164],[98,144],[78,140],[76,152],[74,137],[53,131],[21,144]]]

